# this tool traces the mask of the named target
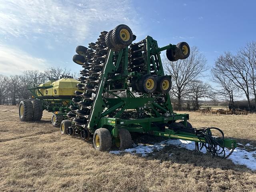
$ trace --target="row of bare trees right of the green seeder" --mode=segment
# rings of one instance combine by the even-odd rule
[[[226,100],[230,108],[235,108],[235,98],[245,97],[247,109],[256,111],[256,42],[248,42],[235,54],[224,52],[216,58],[209,78],[217,84],[216,88],[202,81],[209,68],[197,47],[191,48],[186,60],[170,62],[166,59],[164,69],[172,75],[170,96],[176,101],[177,110],[182,110],[184,100],[192,101],[193,109],[198,109],[200,98]]]

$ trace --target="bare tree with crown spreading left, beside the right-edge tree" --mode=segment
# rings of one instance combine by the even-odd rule
[[[248,110],[250,110],[250,66],[241,61],[242,58],[234,56],[230,52],[225,52],[217,58],[214,68],[222,73],[236,87],[244,92],[247,99]]]

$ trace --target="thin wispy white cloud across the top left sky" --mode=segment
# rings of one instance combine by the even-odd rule
[[[120,23],[140,28],[130,0],[0,0],[0,4],[0,36],[4,38],[44,36],[56,42],[81,42]]]

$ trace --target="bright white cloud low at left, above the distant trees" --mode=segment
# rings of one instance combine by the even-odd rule
[[[17,48],[0,44],[0,73],[4,75],[21,74],[24,70],[44,70],[46,60],[35,58]]]

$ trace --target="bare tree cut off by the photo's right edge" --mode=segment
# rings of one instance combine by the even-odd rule
[[[244,66],[248,66],[249,86],[254,96],[256,110],[256,42],[248,42],[244,48],[241,48],[238,52],[238,58]]]

